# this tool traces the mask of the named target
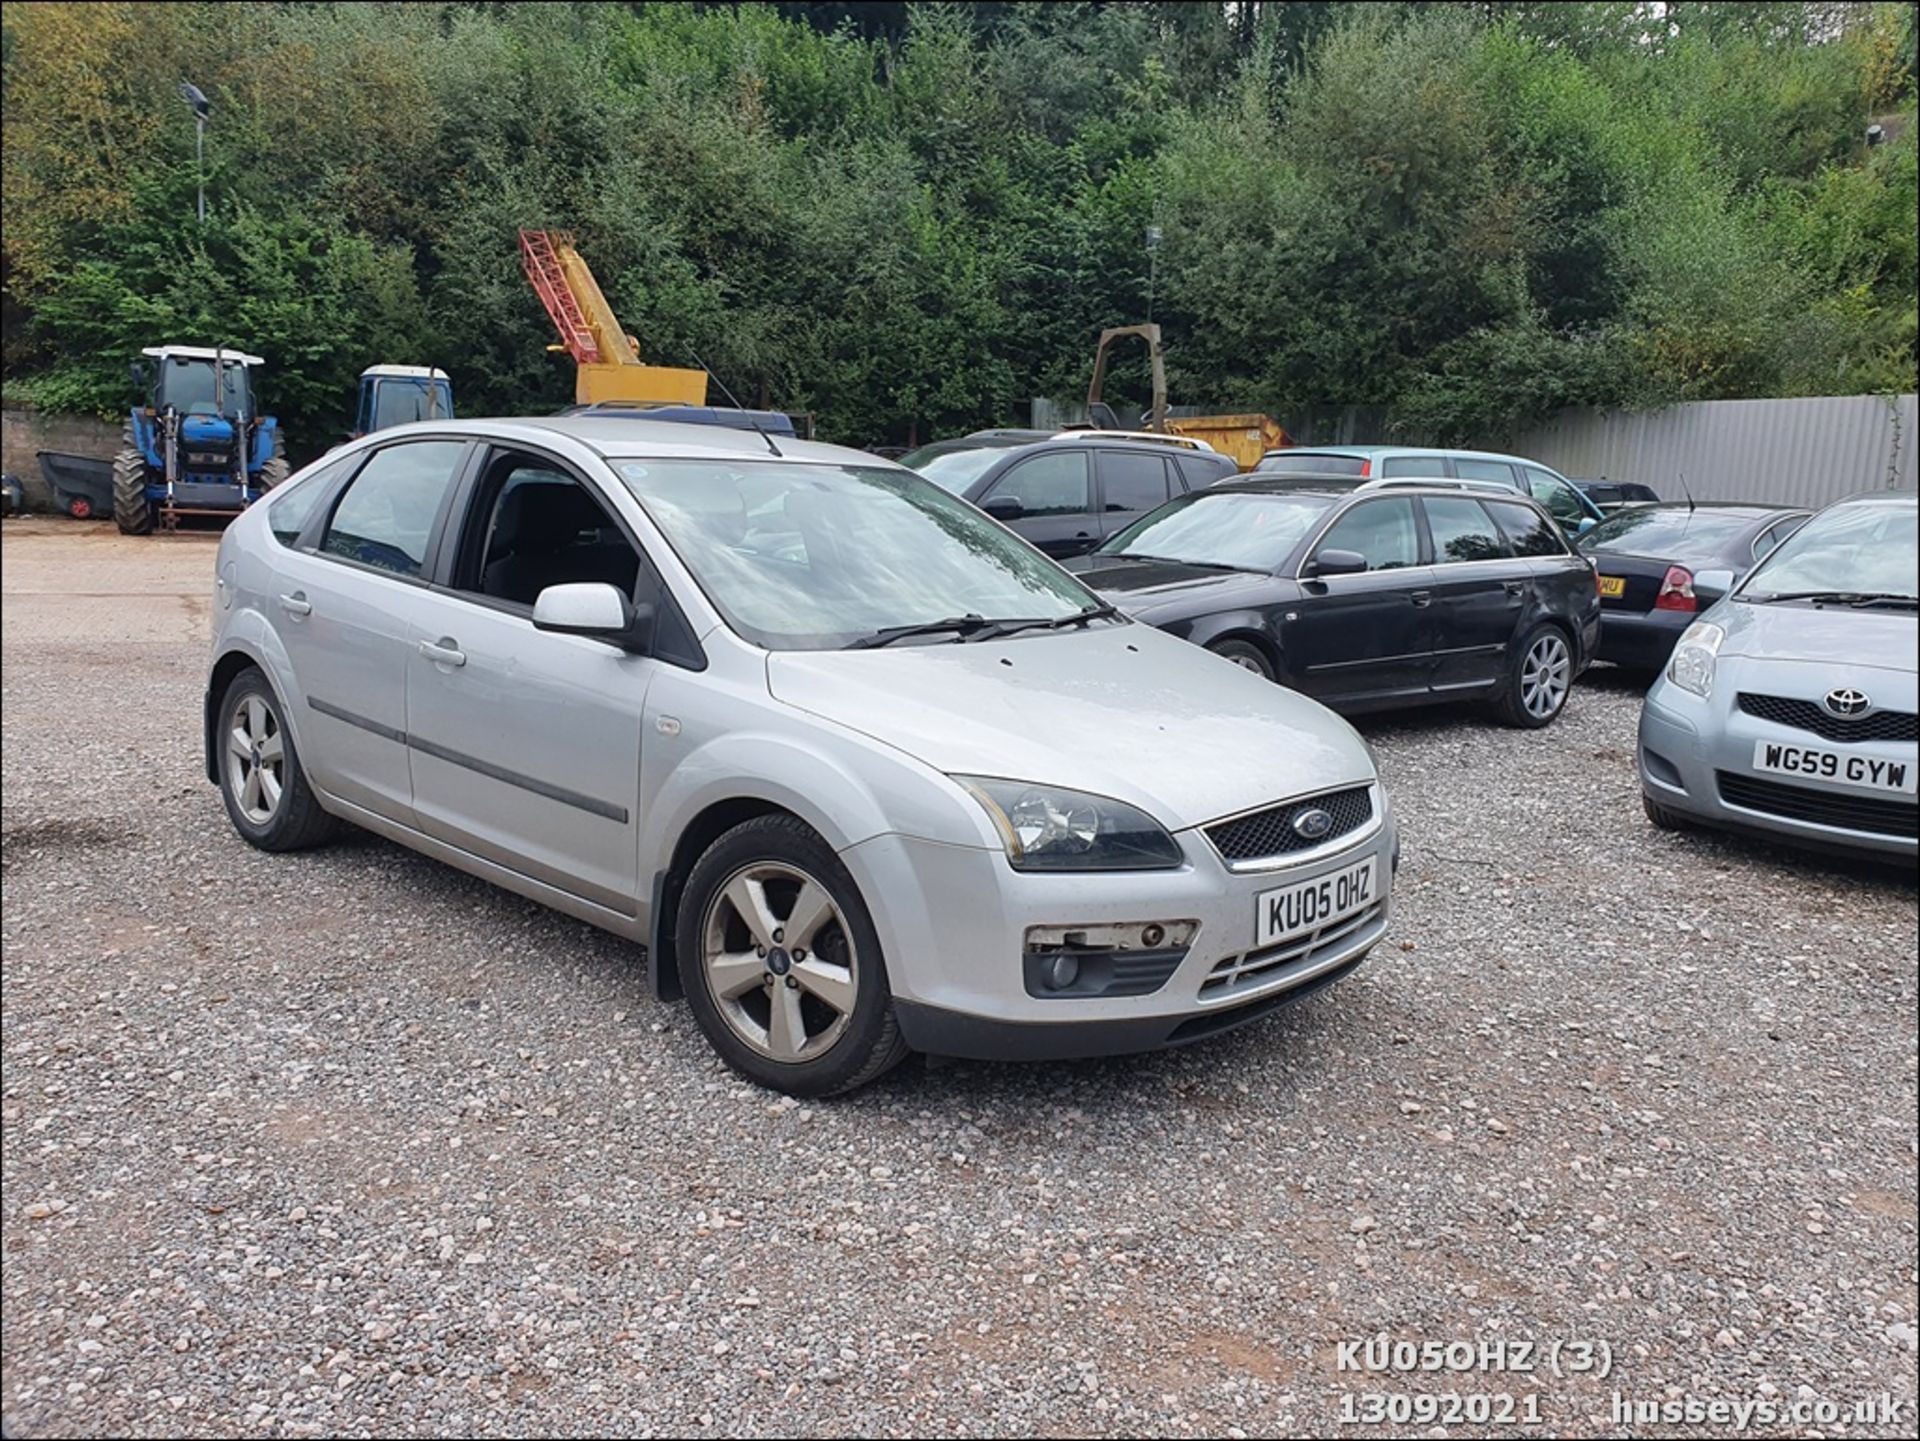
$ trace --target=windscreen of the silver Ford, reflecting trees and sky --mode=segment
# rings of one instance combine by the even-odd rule
[[[770,650],[960,616],[1064,620],[1098,599],[1023,539],[893,466],[614,461],[707,599]]]

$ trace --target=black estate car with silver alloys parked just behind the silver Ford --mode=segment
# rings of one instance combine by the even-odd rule
[[[1137,620],[1344,712],[1486,698],[1548,725],[1599,641],[1530,499],[1352,476],[1187,495],[1068,566]]]

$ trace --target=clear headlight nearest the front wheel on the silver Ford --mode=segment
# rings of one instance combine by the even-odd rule
[[[1016,871],[1164,871],[1185,860],[1167,829],[1125,800],[989,775],[954,779],[993,819]]]

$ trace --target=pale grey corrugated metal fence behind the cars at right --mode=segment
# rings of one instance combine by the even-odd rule
[[[1912,395],[1692,401],[1663,411],[1563,411],[1488,447],[1565,476],[1638,480],[1680,499],[1820,507],[1860,491],[1912,491]]]

